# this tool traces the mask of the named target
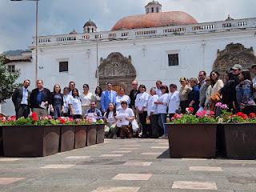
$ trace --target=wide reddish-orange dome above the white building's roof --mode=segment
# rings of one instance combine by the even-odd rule
[[[181,26],[198,23],[190,14],[182,11],[139,14],[121,18],[112,30],[142,29],[156,26]]]

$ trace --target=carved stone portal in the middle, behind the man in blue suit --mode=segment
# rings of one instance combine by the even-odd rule
[[[114,52],[105,59],[101,58],[98,75],[99,86],[102,90],[105,90],[106,82],[111,82],[114,90],[118,91],[120,87],[123,87],[126,94],[129,94],[131,82],[136,78],[136,70],[131,63],[130,56],[125,58],[122,54]]]

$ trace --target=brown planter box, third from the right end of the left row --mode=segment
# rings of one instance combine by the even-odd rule
[[[87,126],[78,125],[74,127],[74,149],[86,146]]]

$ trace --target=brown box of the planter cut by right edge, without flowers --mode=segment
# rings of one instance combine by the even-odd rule
[[[256,159],[256,124],[222,124],[225,134],[226,158]]]

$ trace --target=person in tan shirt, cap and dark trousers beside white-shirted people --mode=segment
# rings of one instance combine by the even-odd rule
[[[180,99],[181,112],[182,114],[186,114],[186,107],[188,107],[190,104],[188,101],[188,95],[191,89],[189,86],[187,86],[186,78],[184,77],[180,78],[179,82],[181,83],[181,86],[182,86],[178,94]]]

